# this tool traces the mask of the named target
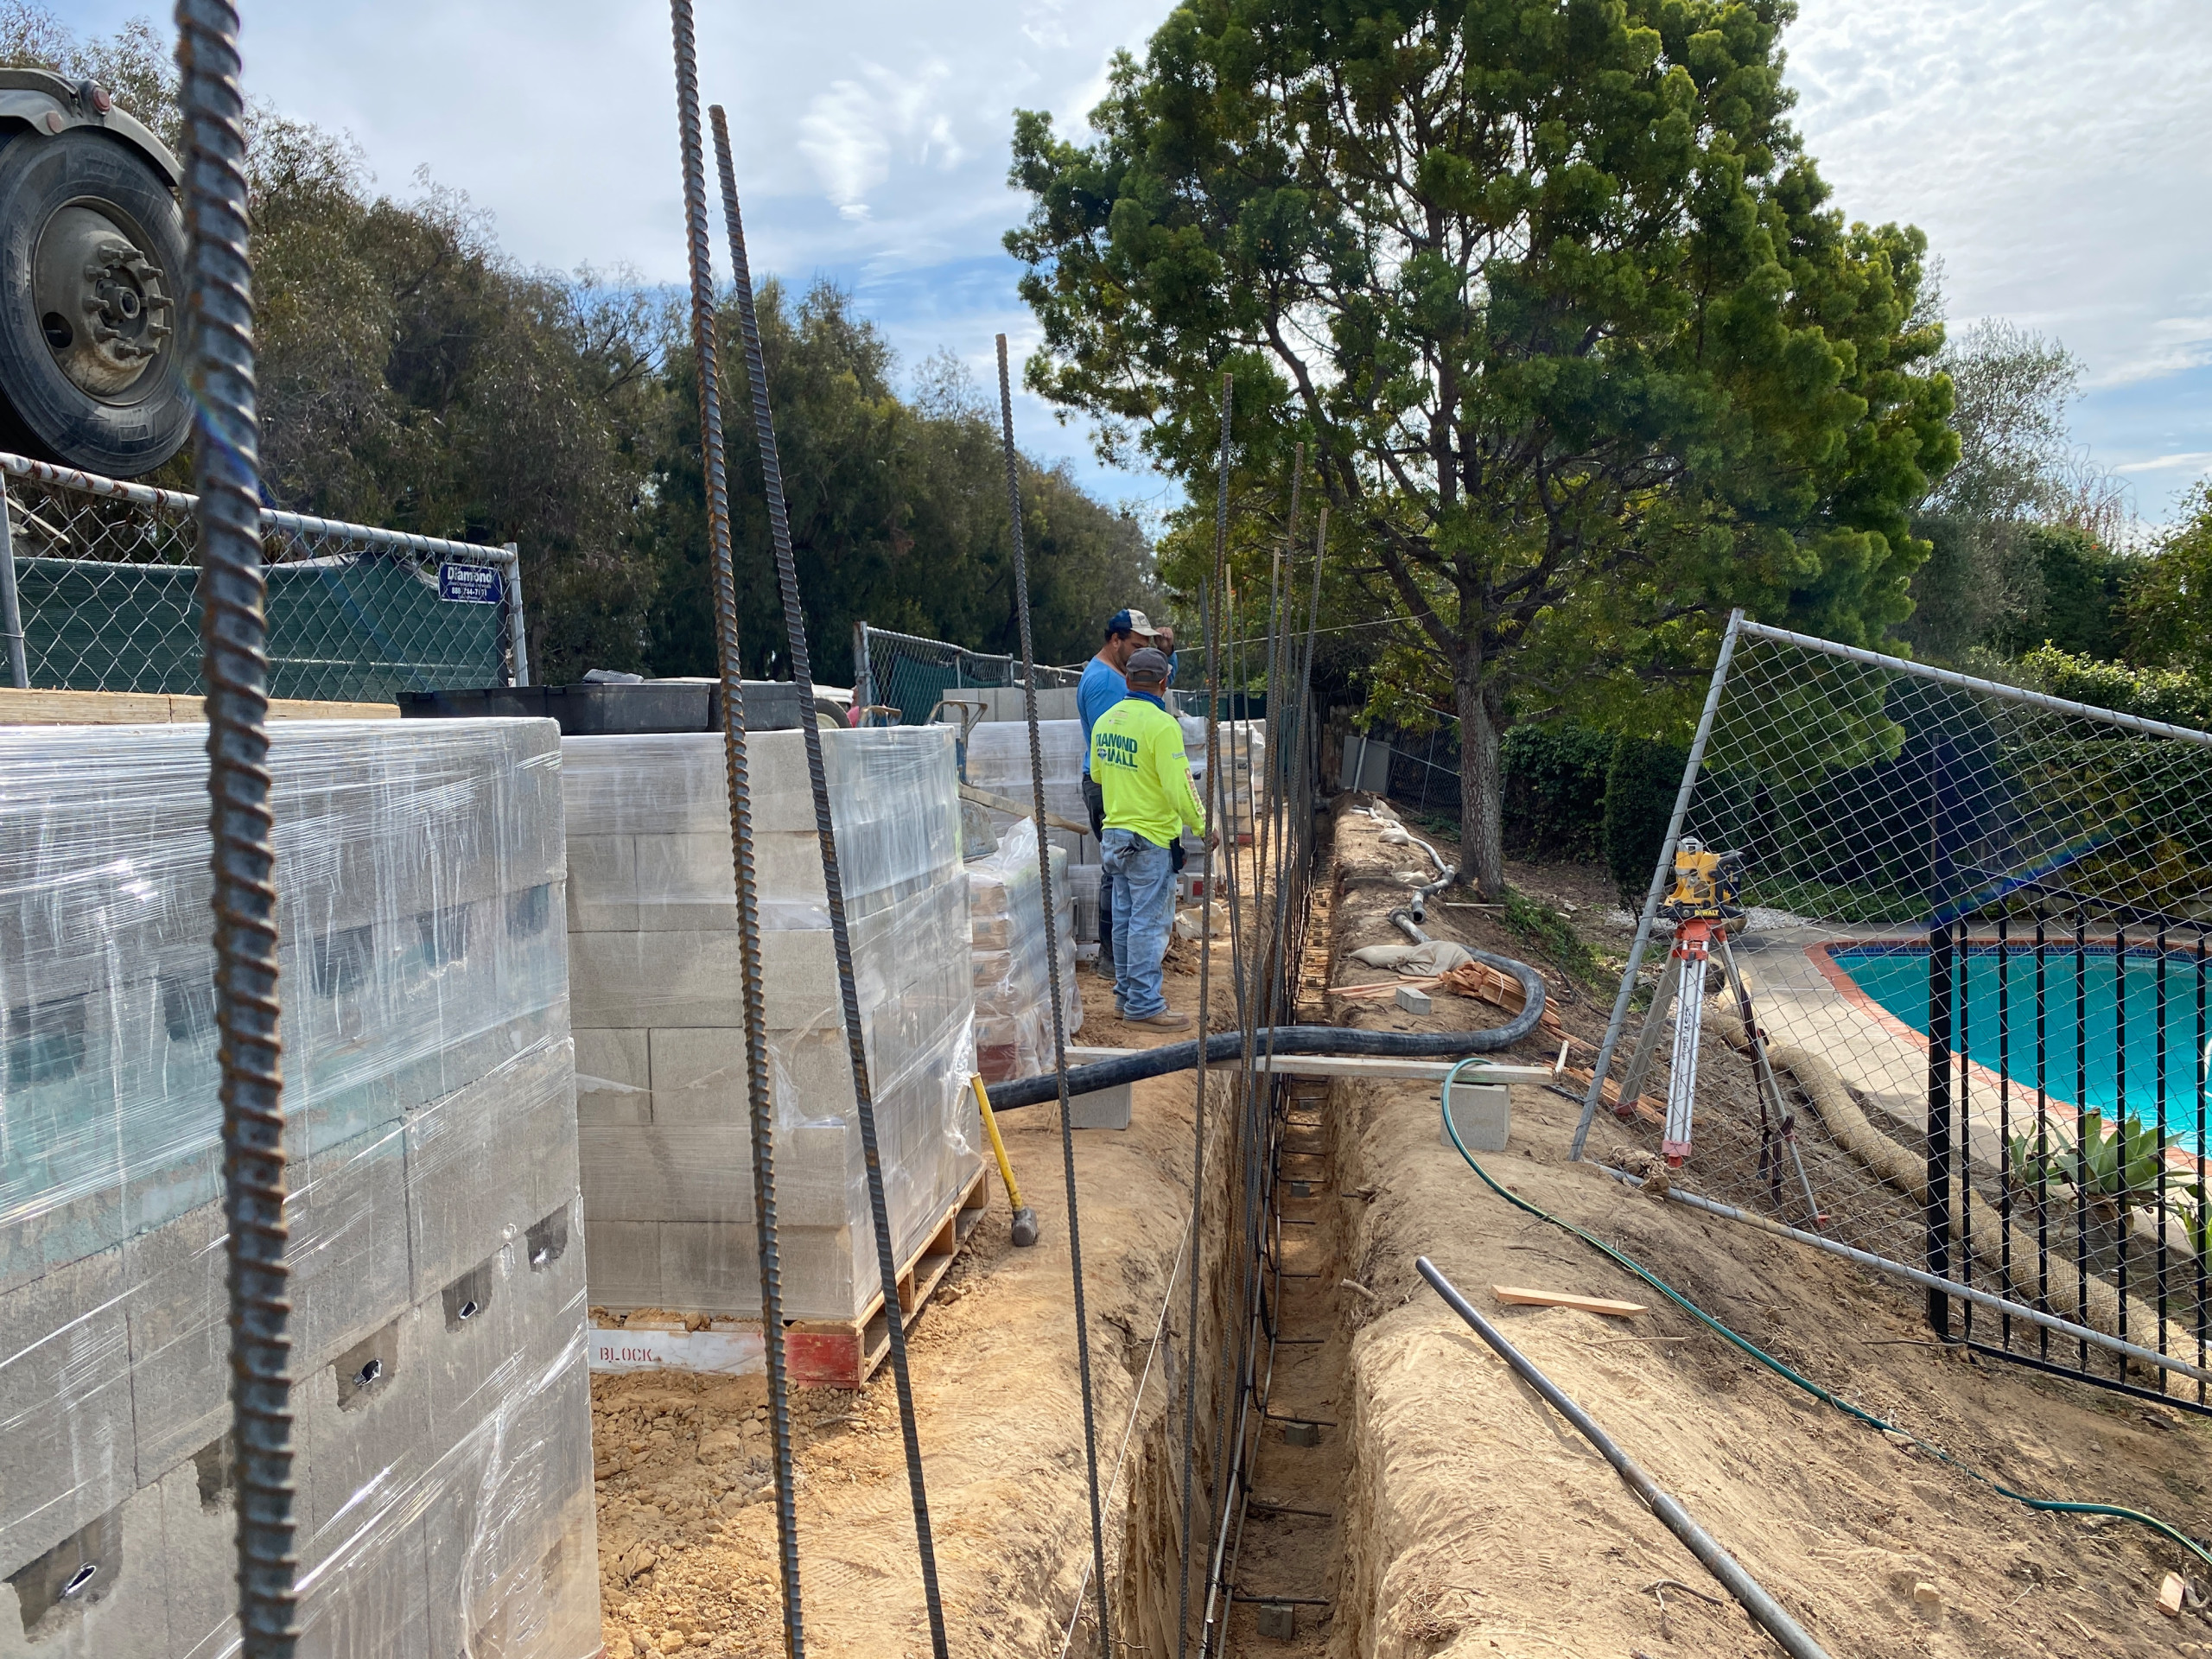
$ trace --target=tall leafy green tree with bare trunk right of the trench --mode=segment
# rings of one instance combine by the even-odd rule
[[[1652,701],[1732,604],[1871,641],[1955,456],[1922,237],[1845,226],[1785,122],[1785,0],[1190,0],[1097,139],[1015,122],[1029,385],[1212,502],[1314,458],[1338,560],[1462,730],[1504,883],[1515,714]]]

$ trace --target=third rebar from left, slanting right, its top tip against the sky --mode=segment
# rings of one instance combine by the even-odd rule
[[[677,0],[686,4],[688,0]],[[807,752],[807,783],[814,792],[814,836],[823,856],[823,896],[830,909],[830,945],[836,958],[838,1000],[845,1018],[845,1053],[852,1062],[854,1115],[860,1119],[860,1161],[867,1168],[867,1208],[876,1232],[876,1272],[883,1281],[885,1332],[891,1343],[891,1383],[898,1394],[898,1427],[907,1453],[907,1491],[914,1500],[916,1555],[922,1571],[922,1604],[929,1644],[945,1659],[945,1601],[938,1595],[938,1555],[929,1526],[929,1489],[922,1480],[922,1442],[914,1416],[914,1378],[907,1369],[907,1323],[898,1298],[898,1243],[883,1179],[883,1146],[876,1135],[876,1095],[867,1066],[867,1029],[860,1024],[860,987],[852,960],[852,929],[845,918],[845,876],[838,869],[836,825],[830,818],[830,772],[823,761],[821,721],[814,717],[814,668],[807,650],[805,608],[799,595],[799,562],[792,553],[792,520],[783,500],[783,462],[768,407],[768,363],[761,354],[761,323],[752,305],[752,263],[745,257],[745,221],[737,204],[737,168],[730,157],[730,124],[721,104],[712,108],[714,157],[721,173],[721,212],[730,230],[730,276],[737,321],[745,338],[745,378],[752,383],[752,436],[761,451],[761,484],[768,495],[768,540],[776,557],[776,595],[783,604],[783,639],[799,701],[799,734]]]

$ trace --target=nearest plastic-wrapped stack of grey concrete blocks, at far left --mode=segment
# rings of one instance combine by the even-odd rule
[[[0,734],[0,1655],[237,1644],[206,770]],[[270,770],[301,1652],[582,1659],[555,728],[283,723]]]

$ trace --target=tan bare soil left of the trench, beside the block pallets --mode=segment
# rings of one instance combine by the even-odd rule
[[[1217,947],[1217,1026],[1234,1024],[1223,958]],[[1170,1006],[1192,1013],[1197,949],[1179,942],[1168,967]],[[1106,982],[1088,969],[1082,991],[1079,1042],[1135,1048],[1190,1035],[1121,1024]],[[1214,1079],[1221,1097],[1219,1071]],[[1181,1400],[1188,1279],[1175,1279],[1168,1340],[1155,1347],[1155,1336],[1190,1214],[1192,1106],[1190,1073],[1159,1077],[1137,1084],[1130,1130],[1075,1135],[1099,1464],[1113,1482],[1106,1562],[1117,1628],[1172,1626],[1175,1617],[1172,1579],[1161,1586],[1152,1573],[1179,1513],[1157,1440],[1170,1387],[1177,1409]],[[1228,1113],[1208,1117],[1225,1124]],[[947,1639],[962,1657],[1062,1652],[1091,1568],[1060,1110],[1006,1113],[1000,1128],[1042,1239],[1013,1248],[993,1175],[987,1219],[909,1329]],[[1210,1314],[1214,1305],[1208,1285]],[[1201,1389],[1210,1378],[1201,1369]],[[807,1652],[927,1655],[891,1367],[856,1394],[803,1389],[794,1398]],[[765,1416],[759,1376],[593,1378],[611,1659],[783,1652]],[[1075,1652],[1097,1650],[1095,1604],[1086,1590]]]

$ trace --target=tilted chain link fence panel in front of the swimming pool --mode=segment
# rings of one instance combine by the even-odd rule
[[[1674,1190],[2203,1371],[2212,734],[1750,622],[1708,708],[1593,1150],[1659,1170],[1681,975],[1719,1013]],[[1661,973],[1637,958],[1672,931],[1677,834],[1741,858],[1745,918],[1710,967]],[[1601,1104],[1593,1082],[1586,1124]],[[2035,1367],[2205,1394],[1949,1292],[1929,1316]]]

